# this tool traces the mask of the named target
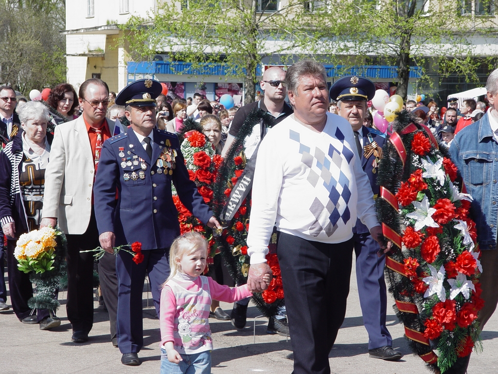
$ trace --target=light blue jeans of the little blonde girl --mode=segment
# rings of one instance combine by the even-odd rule
[[[195,355],[182,355],[183,361],[179,364],[170,363],[168,354],[161,348],[160,374],[211,374],[211,351],[204,351]]]

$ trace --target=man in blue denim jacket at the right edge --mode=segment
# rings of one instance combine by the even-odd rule
[[[485,301],[478,317],[481,329],[498,302],[498,69],[488,77],[486,90],[490,109],[480,121],[462,129],[450,147],[451,158],[474,198],[471,213],[482,250],[480,280]]]

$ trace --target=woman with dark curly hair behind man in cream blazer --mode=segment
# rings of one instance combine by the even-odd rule
[[[69,122],[76,118],[74,109],[78,106],[78,95],[73,86],[69,83],[61,83],[55,86],[48,95],[46,102],[50,112],[50,122],[48,132],[53,132],[53,128],[60,123]]]

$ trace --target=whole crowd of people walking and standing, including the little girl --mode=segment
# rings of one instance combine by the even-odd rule
[[[329,89],[326,78],[324,67],[313,60],[287,71],[271,67],[260,82],[264,96],[228,110],[199,93],[169,102],[151,79],[137,80],[118,94],[97,78],[83,82],[78,93],[62,83],[46,102],[25,103],[17,103],[12,87],[1,86],[0,234],[6,246],[0,251],[0,311],[9,309],[6,263],[10,303],[19,321],[39,324],[41,330],[60,325],[55,310],[29,308],[36,290],[29,275],[17,270],[14,256],[20,234],[57,226],[67,238],[72,342],[87,342],[92,330],[94,256],[88,251],[100,246],[105,254],[98,262],[98,296],[109,312],[110,341],[121,351],[122,363],[140,365],[147,275],[160,320],[161,373],[187,373],[189,366],[210,373],[213,342],[207,321],[245,327],[250,296],[271,281],[265,255],[276,225],[285,307],[269,318],[268,331],[290,335],[293,373],[330,373],[328,355],[345,317],[353,252],[369,355],[399,360],[402,353],[392,348],[386,327],[383,269],[391,243],[374,209],[378,163],[390,132],[373,124],[368,106],[373,82],[347,76]],[[472,213],[481,217],[476,219],[486,302],[481,328],[498,302],[493,287],[498,212],[492,201],[498,179],[498,70],[487,90],[489,107],[473,99],[460,108],[450,100],[445,111],[434,101],[404,104],[449,147],[474,197]],[[254,110],[271,116],[272,126],[255,123],[244,139],[248,163],[255,165],[250,268],[247,284],[230,288],[202,276],[205,238],[179,236],[172,185],[201,222],[215,231],[221,225],[190,178],[176,134],[187,119],[198,122],[215,153],[224,157]],[[124,251],[115,254],[114,248],[133,242],[141,243],[139,261]],[[230,315],[219,301],[234,303]]]

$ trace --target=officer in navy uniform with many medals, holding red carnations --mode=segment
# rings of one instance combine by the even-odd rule
[[[169,275],[169,247],[179,235],[178,212],[171,182],[182,203],[210,227],[220,225],[190,181],[178,137],[157,130],[156,101],[161,84],[137,80],[116,97],[126,107],[130,128],[104,143],[95,181],[95,209],[102,247],[139,241],[143,262],[120,251],[116,259],[119,279],[118,345],[124,365],[140,365],[143,345],[142,289],[148,272],[152,297],[159,316],[160,286]],[[117,196],[117,199],[116,199]]]

